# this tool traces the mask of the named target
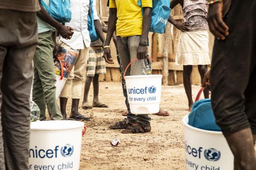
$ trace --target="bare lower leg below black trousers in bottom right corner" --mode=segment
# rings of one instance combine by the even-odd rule
[[[234,170],[256,170],[251,128],[246,128],[226,137],[226,141],[235,157]]]

